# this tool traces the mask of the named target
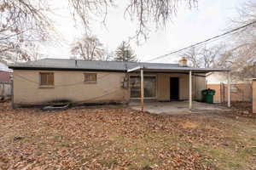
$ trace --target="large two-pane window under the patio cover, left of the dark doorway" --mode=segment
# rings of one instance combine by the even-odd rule
[[[130,77],[131,98],[141,97],[141,77]],[[156,78],[154,76],[144,76],[144,98],[156,98]]]

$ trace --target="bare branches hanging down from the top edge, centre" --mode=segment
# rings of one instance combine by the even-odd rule
[[[75,19],[82,20],[85,30],[90,28],[90,20],[102,16],[104,23],[108,16],[108,8],[114,7],[118,0],[69,0]],[[197,0],[126,0],[124,16],[137,22],[135,37],[146,39],[152,26],[166,26],[166,22],[177,14],[178,5],[183,3],[189,8],[197,4]],[[77,17],[78,16],[78,17]]]

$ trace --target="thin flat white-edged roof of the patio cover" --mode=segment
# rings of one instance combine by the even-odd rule
[[[169,66],[137,66],[135,68],[129,69],[128,72],[133,71],[148,71],[148,72],[188,72],[192,71],[194,73],[207,73],[213,71],[230,71],[229,69],[211,69],[211,68],[194,68],[194,67],[169,67]]]

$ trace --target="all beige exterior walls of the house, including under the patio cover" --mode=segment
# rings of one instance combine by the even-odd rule
[[[39,85],[40,72],[54,72],[55,86],[42,88]],[[96,83],[85,83],[84,73],[88,71],[14,71],[14,104],[41,105],[54,100],[70,100],[81,103],[127,102],[129,89],[121,88],[124,73],[96,72]],[[91,72],[90,72],[91,73]],[[136,74],[132,74],[136,75]],[[147,75],[147,73],[145,74]],[[170,77],[179,77],[179,99],[189,99],[188,74],[150,74],[157,79],[157,99],[170,100]],[[201,99],[205,88],[205,77],[193,76],[193,99]]]

